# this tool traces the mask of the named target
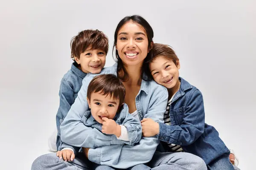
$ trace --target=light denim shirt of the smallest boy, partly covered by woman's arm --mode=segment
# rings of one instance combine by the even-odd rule
[[[116,124],[124,125],[127,129],[129,141],[122,141],[123,144],[134,145],[135,143],[140,142],[142,135],[140,120],[136,119],[129,113],[128,105],[124,104],[122,106],[122,110],[119,113],[116,113],[116,116],[113,118],[113,120],[116,122]],[[102,130],[102,124],[93,118],[90,111],[84,113],[81,122],[87,127],[93,127],[100,131]],[[104,136],[105,135],[102,135],[100,138],[99,136],[88,136],[85,139],[87,140],[87,142],[85,141],[85,147],[96,148],[111,145],[111,141],[107,142],[108,139],[104,141],[101,140],[104,138]],[[112,136],[115,137],[115,135]]]

